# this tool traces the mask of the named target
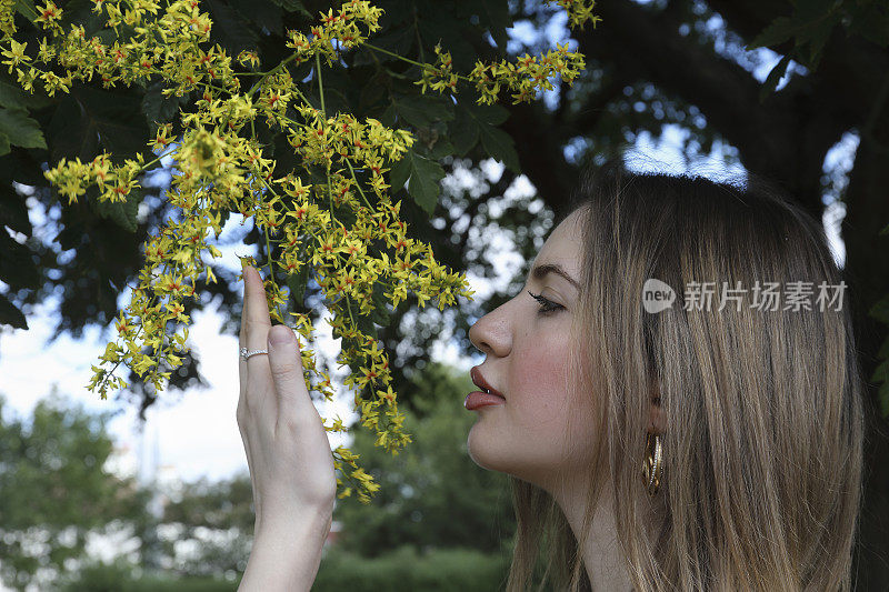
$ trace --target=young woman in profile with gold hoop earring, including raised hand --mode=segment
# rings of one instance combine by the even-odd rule
[[[862,378],[821,225],[760,181],[585,175],[512,300],[470,330],[468,449],[510,475],[507,582],[848,590]],[[257,511],[243,590],[309,590],[336,480],[292,331],[244,269],[238,422]],[[492,404],[477,407],[487,400]],[[542,584],[542,583],[541,583]]]

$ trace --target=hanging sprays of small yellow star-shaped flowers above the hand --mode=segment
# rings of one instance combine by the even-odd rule
[[[218,238],[223,217],[238,212],[252,218],[264,233],[270,315],[291,324],[304,340],[300,350],[307,385],[332,400],[330,378],[318,368],[308,348],[314,334],[311,320],[283,312],[289,294],[276,278],[304,278],[308,273],[324,293],[334,338],[342,338],[337,361],[353,370],[346,385],[354,391],[361,423],[376,430],[377,445],[397,454],[411,438],[402,432],[404,415],[398,411],[391,388],[389,359],[376,337],[367,334],[367,319],[386,312],[381,309],[389,305],[397,307],[409,294],[421,308],[433,302],[443,310],[458,297],[471,298],[472,292],[465,275],[436,261],[428,244],[408,238],[400,217],[401,202],[389,194],[386,173],[411,148],[413,137],[376,119],[326,111],[321,58],[330,64],[343,49],[373,49],[366,40],[380,28],[382,10],[368,1],[350,0],[337,13],[321,13],[311,37],[288,32],[287,46],[293,52],[268,72],[256,73],[234,71],[232,59],[219,46],[207,47],[212,22],[200,10],[199,0],[164,1],[163,7],[156,0],[92,1],[93,11],[118,33],[110,43],[99,37],[87,38],[80,26],[64,31],[60,24],[62,9],[48,1],[31,16],[31,21],[49,34],[32,56],[27,43],[13,38],[12,16],[19,3],[0,0],[2,63],[9,72],[17,72],[24,89],[33,91],[39,81],[52,94],[68,92],[76,81],[93,77],[104,87],[160,79],[164,96],[198,90],[200,97],[191,103],[191,111],[180,113],[180,134],[173,133],[172,123],[166,123],[157,126],[154,137],[147,139],[146,146],[159,154],[153,160],[146,161],[139,154],[116,164],[111,154],[102,153],[88,162],[62,159],[46,172],[69,204],[90,187],[99,190],[100,201],[124,202],[139,187],[140,174],[154,167],[160,154],[176,161],[164,197],[181,215],[172,217],[146,242],[139,283],[116,321],[118,340],[108,343],[100,364],[92,367],[94,374],[88,388],[98,389],[103,399],[109,389],[127,388],[126,381],[114,377],[114,370],[124,364],[157,391],[162,390],[169,370],[179,367],[181,354],[188,351],[190,319],[184,313],[184,299],[196,298],[201,275],[208,283],[216,281],[203,255],[218,258],[221,253],[208,244],[209,233]],[[559,3],[565,6],[566,1]],[[588,14],[583,2],[567,4],[577,19]],[[124,26],[126,36],[118,30]],[[453,91],[457,74],[450,54],[440,48],[436,53],[437,67],[422,64],[424,72],[434,74],[423,73],[420,83],[423,90],[429,86]],[[302,94],[287,69],[290,62],[312,59],[320,109]],[[234,62],[256,70],[259,57],[256,51],[242,51]],[[515,64],[479,63],[469,79],[476,82],[480,102],[493,101],[501,83],[515,90],[513,98],[529,100],[536,89],[550,88],[547,84],[552,76],[573,80],[582,63],[582,57],[558,48],[540,59],[526,56]],[[242,77],[259,79],[242,92]],[[287,139],[301,161],[299,169],[276,178],[277,162],[268,158],[267,148],[254,133],[260,117]],[[246,259],[260,268],[252,258]],[[299,299],[302,294],[294,295]],[[331,424],[324,422],[324,429],[347,430],[339,418]],[[343,480],[337,480],[342,486],[339,496],[354,491],[368,503],[379,485],[358,466],[357,455],[348,449],[338,448],[333,456],[334,466],[351,483],[346,486]],[[348,474],[346,465],[351,466]]]

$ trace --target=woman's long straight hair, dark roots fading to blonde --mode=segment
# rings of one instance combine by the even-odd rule
[[[820,223],[760,179],[590,169],[572,197],[583,224],[575,312],[575,383],[600,434],[583,533],[609,492],[620,552],[640,592],[849,590],[861,496],[862,377],[848,294]],[[566,214],[567,217],[567,214]],[[676,291],[648,313],[642,285]],[[811,310],[757,310],[756,282],[808,284]],[[717,282],[709,309],[686,309],[691,282]],[[719,311],[722,282],[741,307]],[[842,293],[842,292],[841,292]],[[785,310],[787,309],[787,310]],[[839,309],[839,310],[837,310]],[[663,478],[641,483],[652,392],[666,418]],[[565,514],[510,476],[518,530],[509,592],[590,590]],[[547,553],[541,563],[541,549]]]

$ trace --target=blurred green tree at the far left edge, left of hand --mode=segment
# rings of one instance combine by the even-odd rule
[[[23,589],[77,565],[88,534],[138,532],[149,492],[108,465],[110,413],[92,414],[54,392],[27,420],[0,397],[0,578]],[[73,562],[72,562],[73,560]]]

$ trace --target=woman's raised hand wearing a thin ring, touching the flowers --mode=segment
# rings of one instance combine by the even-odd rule
[[[247,361],[238,357],[238,428],[253,488],[254,535],[286,534],[319,518],[329,530],[337,494],[333,456],[306,389],[299,344],[288,327],[271,327],[259,272],[246,265],[243,280],[240,348],[269,351]]]

